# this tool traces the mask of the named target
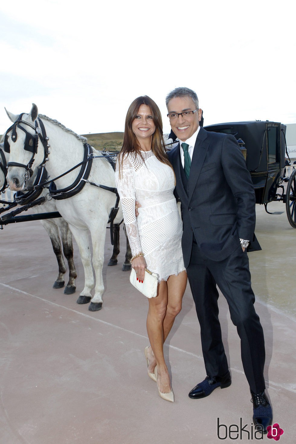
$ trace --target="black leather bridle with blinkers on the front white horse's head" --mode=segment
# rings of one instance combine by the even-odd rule
[[[42,163],[39,165],[39,168],[44,166],[45,163],[49,160],[48,159],[48,155],[49,155],[48,148],[50,147],[50,145],[48,143],[48,137],[46,135],[46,131],[45,131],[45,128],[44,128],[44,125],[43,125],[43,122],[41,121],[41,119],[39,119],[39,117],[38,117],[38,122],[39,122],[40,127],[38,126],[37,119],[35,120],[35,126],[33,126],[33,125],[31,125],[31,123],[28,123],[25,120],[22,120],[23,115],[24,115],[24,113],[20,114],[18,119],[6,131],[5,136],[4,136],[4,151],[7,153],[10,153],[10,145],[8,143],[8,133],[10,131],[12,131],[12,134],[11,134],[12,142],[16,142],[16,140],[17,140],[16,128],[18,127],[20,130],[24,131],[24,133],[25,133],[24,150],[30,151],[32,153],[32,157],[29,160],[29,162],[27,163],[27,165],[25,165],[24,163],[8,162],[7,166],[8,167],[9,166],[20,166],[21,168],[25,169],[24,180],[26,182],[26,187],[28,190],[28,182],[33,174],[32,165],[35,160],[34,157],[37,154],[37,150],[38,150],[38,140],[39,139],[41,140],[43,147],[44,147],[44,157],[43,157]],[[20,123],[32,128],[35,131],[35,134],[32,135],[31,133],[29,133],[24,127],[22,127],[20,125]]]

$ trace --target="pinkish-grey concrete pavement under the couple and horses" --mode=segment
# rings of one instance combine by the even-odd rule
[[[272,202],[269,211],[284,211]],[[262,251],[249,254],[256,309],[266,342],[265,379],[281,443],[294,443],[296,230],[286,214],[257,205]],[[195,444],[247,442],[254,435],[253,408],[243,373],[240,343],[224,297],[220,319],[233,383],[203,400],[188,392],[205,378],[199,325],[189,285],[165,345],[174,404],[158,396],[146,372],[148,302],[111,257],[109,230],[103,269],[103,309],[77,305],[83,268],[76,244],[77,291],[53,289],[57,265],[39,222],[0,231],[0,444]],[[224,424],[217,432],[217,421]],[[229,436],[229,426],[239,432]],[[245,427],[240,432],[240,424]],[[231,430],[235,430],[233,427]],[[227,437],[224,439],[226,436]],[[240,435],[241,433],[241,435]],[[231,439],[232,438],[232,439]],[[268,441],[264,436],[263,440]]]

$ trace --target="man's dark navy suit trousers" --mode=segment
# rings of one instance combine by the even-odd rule
[[[254,393],[263,392],[264,335],[254,309],[255,296],[247,252],[243,252],[239,245],[228,258],[215,262],[201,253],[194,239],[187,274],[201,327],[207,375],[223,376],[228,371],[218,318],[217,283],[228,302],[231,320],[241,339],[241,359],[250,389]]]

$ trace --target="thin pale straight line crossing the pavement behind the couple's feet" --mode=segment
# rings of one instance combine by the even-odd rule
[[[131,333],[133,335],[136,335],[136,336],[139,336],[139,337],[142,337],[142,338],[145,338],[145,339],[148,340],[148,338],[146,336],[142,335],[142,334],[135,333],[135,332],[133,332],[131,330],[124,329],[123,327],[119,327],[118,325],[111,324],[110,322],[107,322],[107,321],[102,321],[102,319],[97,319],[95,317],[89,316],[86,313],[81,313],[80,311],[77,311],[77,310],[65,307],[64,305],[59,305],[59,304],[56,304],[55,302],[47,301],[47,299],[43,299],[42,297],[36,296],[35,294],[27,293],[26,291],[20,290],[20,289],[15,288],[15,287],[12,287],[11,285],[3,284],[2,282],[0,282],[0,285],[4,286],[6,288],[9,288],[11,290],[17,291],[18,293],[22,293],[22,294],[26,294],[27,296],[35,297],[36,299],[39,299],[40,301],[46,302],[49,305],[55,305],[56,307],[66,309],[66,310],[71,311],[73,313],[77,313],[77,314],[79,314],[81,316],[84,316],[84,317],[87,317],[89,319],[92,319],[93,321],[101,322],[102,324],[109,325],[110,327],[114,327],[115,329],[123,330],[123,331],[125,331],[127,333]],[[187,352],[186,350],[179,349],[178,347],[175,347],[174,345],[168,345],[168,344],[164,344],[164,345],[166,347],[171,347],[172,349],[177,350],[178,352],[185,353],[185,354],[187,354],[189,356],[193,356],[193,357],[203,361],[203,357],[200,356],[200,355],[196,355],[194,353]],[[239,369],[235,369],[233,367],[229,367],[229,369],[232,372],[245,374],[243,371],[241,371]],[[272,385],[275,389],[284,389],[284,390],[288,390],[288,392],[296,393],[296,389],[292,389],[292,388],[286,387],[285,385],[280,385],[280,384],[278,384],[276,382],[268,381],[268,380],[265,380],[265,382],[267,382],[269,386]]]

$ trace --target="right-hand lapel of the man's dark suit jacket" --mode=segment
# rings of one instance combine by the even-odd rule
[[[192,198],[193,192],[196,187],[198,176],[201,172],[202,165],[205,161],[205,156],[207,154],[207,151],[209,149],[209,143],[206,142],[207,139],[207,132],[204,128],[200,128],[197,134],[197,138],[194,145],[193,150],[193,156],[191,160],[191,166],[190,166],[190,174],[189,174],[189,180],[188,180],[188,198],[189,202]]]

